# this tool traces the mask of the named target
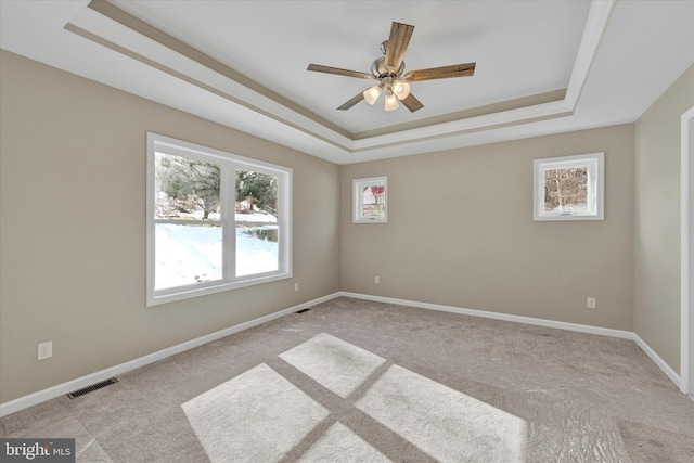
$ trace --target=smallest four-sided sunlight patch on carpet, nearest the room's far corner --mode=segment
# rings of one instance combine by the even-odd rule
[[[343,399],[386,361],[325,333],[281,353],[280,358]]]

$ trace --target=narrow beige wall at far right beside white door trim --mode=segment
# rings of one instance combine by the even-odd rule
[[[635,125],[634,331],[680,371],[680,117],[694,66]]]

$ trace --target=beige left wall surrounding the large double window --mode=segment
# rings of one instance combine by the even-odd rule
[[[338,166],[0,56],[0,402],[339,290]],[[294,279],[146,308],[146,131],[292,167]]]

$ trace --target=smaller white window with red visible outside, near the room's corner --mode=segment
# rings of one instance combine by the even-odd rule
[[[388,177],[354,179],[352,223],[386,223],[388,221]]]

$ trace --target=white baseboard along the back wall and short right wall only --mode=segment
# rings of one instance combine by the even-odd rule
[[[531,317],[522,317],[522,316],[512,316],[507,313],[499,313],[499,312],[488,312],[485,310],[473,310],[473,309],[463,309],[459,307],[451,306],[441,306],[438,304],[428,304],[428,303],[419,303],[415,300],[404,300],[404,299],[396,299],[393,297],[382,297],[382,296],[371,296],[368,294],[359,294],[359,293],[348,293],[340,292],[340,296],[344,297],[354,297],[356,299],[365,299],[365,300],[374,300],[378,303],[388,303],[388,304],[397,304],[401,306],[410,306],[417,307],[421,309],[430,309],[430,310],[440,310],[445,312],[452,313],[461,313],[464,316],[473,316],[473,317],[483,317],[487,319],[494,320],[503,320],[516,323],[527,323],[547,327],[556,327],[560,330],[569,330],[576,331],[580,333],[589,333],[589,334],[597,334],[601,336],[611,336],[611,337],[620,337],[624,339],[631,339],[637,343],[637,345],[653,360],[653,362],[665,373],[665,375],[672,382],[674,385],[681,389],[680,387],[680,375],[678,375],[674,370],[672,370],[656,352],[648,346],[637,333],[631,331],[622,331],[622,330],[612,330],[607,327],[600,326],[590,326],[578,323],[566,323],[566,322],[557,322],[552,320],[544,319],[535,319]]]

